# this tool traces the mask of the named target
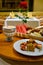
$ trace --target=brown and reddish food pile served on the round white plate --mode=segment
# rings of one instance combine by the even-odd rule
[[[23,51],[35,51],[35,48],[41,50],[42,49],[42,45],[36,43],[33,39],[30,39],[29,41],[23,42],[20,45],[20,49]]]

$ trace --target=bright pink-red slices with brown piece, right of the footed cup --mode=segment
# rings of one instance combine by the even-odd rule
[[[16,26],[16,31],[19,33],[30,33],[31,30],[32,30],[32,28],[26,26],[25,24],[21,24],[21,25]]]

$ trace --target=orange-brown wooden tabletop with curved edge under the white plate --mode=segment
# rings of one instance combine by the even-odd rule
[[[6,39],[5,35],[3,33],[0,34],[0,56],[17,61],[29,61],[29,62],[43,61],[43,56],[40,57],[24,56],[17,53],[13,49],[14,42],[20,40],[21,38],[14,37],[14,40],[12,42],[6,42],[5,39]]]

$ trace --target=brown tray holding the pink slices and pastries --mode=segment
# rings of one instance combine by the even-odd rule
[[[43,26],[36,27],[35,29],[41,29],[41,28],[43,28]],[[31,31],[34,31],[35,29],[33,29]],[[21,38],[26,38],[26,39],[32,38],[32,39],[43,41],[43,36],[31,35],[31,31],[30,31],[30,33],[26,33],[26,34],[15,32],[15,36],[21,37]]]

